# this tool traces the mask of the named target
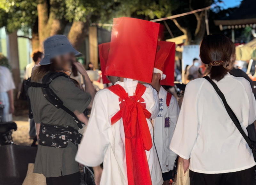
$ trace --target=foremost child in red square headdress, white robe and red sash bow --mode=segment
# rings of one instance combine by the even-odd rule
[[[151,124],[158,95],[149,84],[138,83],[151,82],[158,31],[159,24],[145,20],[113,21],[104,75],[120,80],[96,94],[76,155],[78,162],[94,167],[96,184],[163,184]],[[103,172],[97,167],[102,162]]]

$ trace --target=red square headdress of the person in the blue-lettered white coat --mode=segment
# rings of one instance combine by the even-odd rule
[[[160,84],[174,86],[175,43],[159,41],[154,73],[162,75]]]

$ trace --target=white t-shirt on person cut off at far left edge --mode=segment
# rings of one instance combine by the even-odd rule
[[[0,92],[7,92],[12,89],[15,89],[15,85],[10,70],[0,66]]]

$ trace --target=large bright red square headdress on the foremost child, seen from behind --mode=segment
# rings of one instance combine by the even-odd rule
[[[136,18],[114,18],[105,75],[150,83],[159,24]]]

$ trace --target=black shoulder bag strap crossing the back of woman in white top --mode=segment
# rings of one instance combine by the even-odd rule
[[[254,141],[251,141],[248,136],[245,134],[244,130],[242,129],[242,126],[240,125],[235,113],[233,112],[233,110],[229,107],[226,98],[224,96],[224,94],[220,91],[220,89],[218,88],[217,84],[214,83],[212,81],[212,79],[209,76],[204,76],[204,79],[208,80],[208,82],[210,82],[213,86],[213,88],[216,90],[217,94],[220,96],[229,117],[232,119],[233,123],[236,125],[236,128],[239,130],[239,132],[242,134],[243,138],[245,139],[245,141],[247,142],[247,144],[250,146],[250,148],[252,149],[252,154],[254,157],[254,160],[256,161],[256,143]]]

